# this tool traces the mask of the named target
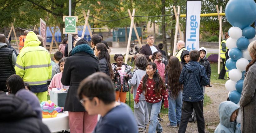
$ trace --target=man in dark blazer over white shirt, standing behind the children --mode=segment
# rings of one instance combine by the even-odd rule
[[[147,38],[147,44],[142,46],[139,53],[144,54],[148,60],[151,60],[154,52],[160,51],[158,46],[153,45],[155,38],[153,35],[149,35]],[[161,51],[160,51],[161,52]]]

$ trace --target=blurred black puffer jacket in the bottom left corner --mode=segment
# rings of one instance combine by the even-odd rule
[[[1,133],[50,133],[31,106],[14,95],[0,96]]]

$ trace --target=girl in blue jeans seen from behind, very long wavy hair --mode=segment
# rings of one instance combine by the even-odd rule
[[[182,85],[179,82],[181,74],[181,63],[175,56],[171,56],[166,68],[167,84],[169,91],[169,111],[168,117],[170,123],[167,127],[177,127],[181,123],[181,107],[182,107]],[[175,111],[176,110],[176,111]]]

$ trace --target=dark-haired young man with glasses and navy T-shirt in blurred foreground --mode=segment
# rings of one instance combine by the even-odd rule
[[[112,80],[102,72],[88,76],[79,85],[78,96],[85,110],[89,115],[101,115],[93,133],[138,132],[130,107],[115,101],[114,88]]]

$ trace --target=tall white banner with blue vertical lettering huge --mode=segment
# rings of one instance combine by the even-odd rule
[[[186,42],[188,51],[199,49],[201,1],[187,1]]]

